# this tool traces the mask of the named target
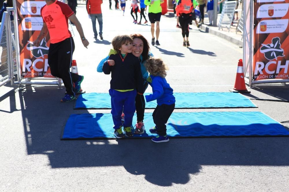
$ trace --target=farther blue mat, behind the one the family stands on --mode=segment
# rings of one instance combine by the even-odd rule
[[[145,93],[148,95],[150,93]],[[204,109],[204,108],[254,108],[255,104],[240,93],[231,92],[200,92],[174,93],[175,109]],[[154,109],[156,101],[146,103],[146,109]],[[74,109],[111,109],[108,93],[85,93],[79,95]]]

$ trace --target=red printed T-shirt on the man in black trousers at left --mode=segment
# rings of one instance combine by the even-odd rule
[[[51,43],[58,43],[71,37],[68,30],[68,17],[73,15],[71,8],[60,1],[55,1],[50,5],[41,8],[43,23],[46,23]]]

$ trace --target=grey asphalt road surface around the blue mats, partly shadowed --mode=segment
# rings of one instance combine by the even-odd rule
[[[151,39],[149,25],[133,24],[129,3],[121,11],[103,9],[103,41],[94,41],[84,5],[77,7],[88,49],[75,33],[78,72],[87,93],[108,92],[110,76],[96,67],[117,34],[141,33]],[[113,6],[114,7],[114,2]],[[144,20],[143,20],[144,21]],[[182,46],[176,19],[162,16],[160,46],[151,52],[168,64],[166,77],[175,92],[228,92],[233,88],[242,49],[191,26],[190,44]],[[64,90],[32,85],[18,91],[0,87],[0,191],[288,191],[289,137],[60,140],[71,114],[110,113],[73,110],[60,103]],[[289,100],[289,85],[249,88],[248,98]],[[147,90],[151,92],[151,88]],[[253,100],[251,109],[179,109],[184,111],[262,111],[288,121],[288,102]],[[146,110],[151,112],[153,110]],[[287,128],[289,123],[283,123]],[[148,128],[147,128],[148,129]]]

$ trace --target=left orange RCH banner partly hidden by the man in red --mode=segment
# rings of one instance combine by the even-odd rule
[[[43,25],[40,9],[44,5],[46,5],[45,1],[16,0],[23,78],[53,77],[47,60],[50,44],[49,34],[40,42],[39,47],[33,46],[33,41],[37,39]]]

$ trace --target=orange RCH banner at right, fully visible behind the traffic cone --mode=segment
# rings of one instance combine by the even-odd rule
[[[289,79],[289,0],[254,1],[253,80]]]

